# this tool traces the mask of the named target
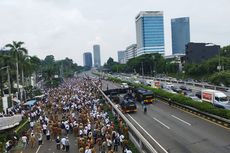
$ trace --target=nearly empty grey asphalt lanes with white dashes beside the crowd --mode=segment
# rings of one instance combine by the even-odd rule
[[[103,89],[119,87],[103,81]],[[168,153],[229,153],[230,130],[198,116],[170,107],[164,102],[148,105],[144,114],[126,114],[150,143],[157,141]],[[153,140],[154,139],[154,140]]]

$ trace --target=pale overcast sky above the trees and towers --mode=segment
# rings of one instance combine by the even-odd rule
[[[102,64],[136,43],[140,11],[163,11],[166,55],[171,18],[190,17],[190,41],[230,44],[229,0],[0,0],[0,48],[25,42],[29,55],[54,55],[83,65],[83,53],[101,47]]]

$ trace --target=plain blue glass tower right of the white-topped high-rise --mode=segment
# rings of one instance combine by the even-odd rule
[[[190,42],[189,17],[171,19],[172,54],[185,54]]]

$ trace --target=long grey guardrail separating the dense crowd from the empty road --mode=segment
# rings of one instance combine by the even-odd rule
[[[137,145],[137,148],[142,153],[168,153],[164,148],[158,146],[157,144],[151,145],[143,135],[134,127],[134,125],[125,117],[125,115],[118,109],[118,107],[113,104],[113,102],[106,96],[106,94],[96,86],[96,84],[92,81],[93,85],[101,92],[101,94],[105,97],[107,102],[113,107],[114,112],[116,112],[127,124],[129,127],[129,135],[134,140],[133,143]]]

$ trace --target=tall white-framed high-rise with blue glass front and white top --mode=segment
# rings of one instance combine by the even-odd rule
[[[136,16],[137,56],[164,54],[164,18],[162,11],[141,11]]]

